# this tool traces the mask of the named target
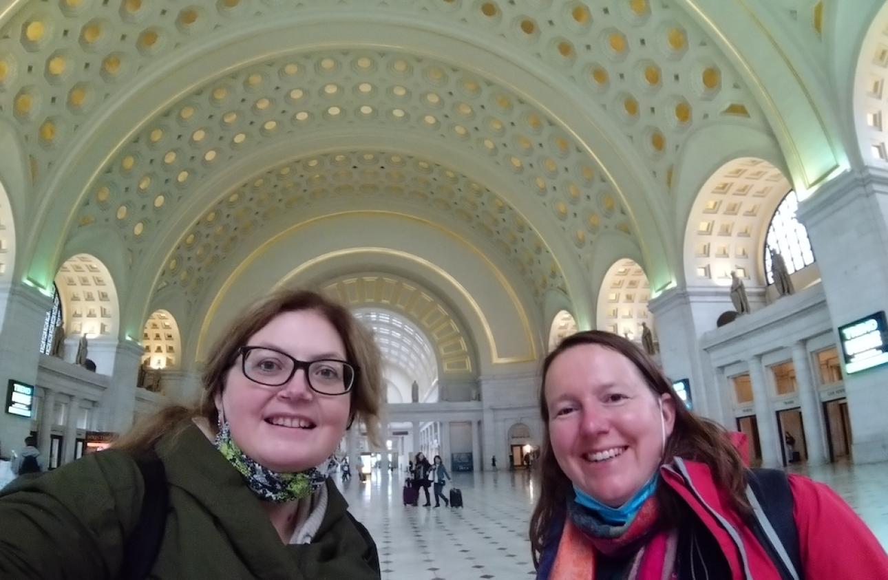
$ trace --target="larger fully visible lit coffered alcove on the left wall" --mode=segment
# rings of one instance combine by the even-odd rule
[[[116,340],[117,290],[107,266],[91,254],[67,258],[55,277],[68,337]]]

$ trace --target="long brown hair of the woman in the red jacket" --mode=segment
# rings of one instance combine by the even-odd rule
[[[725,489],[734,509],[743,516],[750,512],[746,500],[746,473],[743,460],[725,432],[725,429],[709,419],[698,417],[685,406],[672,389],[669,379],[653,359],[635,343],[611,332],[585,330],[565,338],[543,361],[543,380],[540,386],[540,414],[543,417],[543,443],[540,454],[540,498],[530,517],[530,547],[534,565],[546,547],[546,538],[552,526],[563,521],[567,514],[567,502],[574,497],[573,483],[561,471],[552,452],[549,433],[549,406],[546,402],[546,373],[551,363],[569,348],[581,345],[599,345],[622,354],[635,365],[647,386],[656,395],[667,393],[675,406],[675,425],[666,441],[662,462],[673,457],[683,457],[709,465],[718,486]],[[670,525],[678,525],[682,516],[681,500],[667,486],[657,488],[663,519]]]

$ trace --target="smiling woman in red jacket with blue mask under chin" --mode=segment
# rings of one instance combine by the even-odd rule
[[[882,580],[888,555],[829,487],[749,471],[638,346],[596,330],[543,363],[539,580]]]

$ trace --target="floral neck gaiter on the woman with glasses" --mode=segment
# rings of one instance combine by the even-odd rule
[[[283,504],[309,497],[327,480],[327,472],[323,469],[327,460],[318,467],[299,473],[278,473],[259,465],[234,442],[227,421],[222,422],[213,444],[228,463],[241,473],[250,490],[267,502]]]

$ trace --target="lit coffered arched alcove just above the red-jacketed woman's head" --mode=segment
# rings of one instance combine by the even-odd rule
[[[598,326],[630,340],[641,340],[641,323],[654,329],[647,311],[651,286],[644,269],[632,259],[621,259],[607,269],[599,290]]]

